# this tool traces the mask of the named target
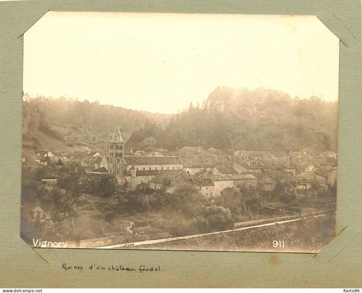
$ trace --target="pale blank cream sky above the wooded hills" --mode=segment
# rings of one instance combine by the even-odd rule
[[[47,12],[23,91],[177,113],[219,85],[338,100],[338,38],[315,16]]]

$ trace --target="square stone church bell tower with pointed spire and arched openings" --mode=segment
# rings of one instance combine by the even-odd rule
[[[109,141],[108,173],[114,175],[119,183],[123,183],[123,170],[125,169],[125,142],[122,139],[119,126],[114,130],[113,137]]]

